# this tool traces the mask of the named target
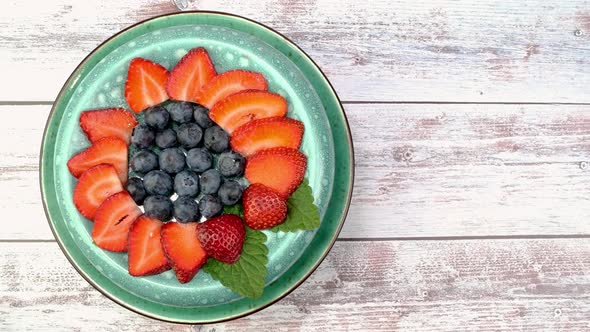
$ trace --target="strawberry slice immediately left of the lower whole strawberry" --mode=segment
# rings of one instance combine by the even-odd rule
[[[196,222],[169,222],[162,227],[162,246],[181,284],[191,281],[207,262],[197,225]]]

